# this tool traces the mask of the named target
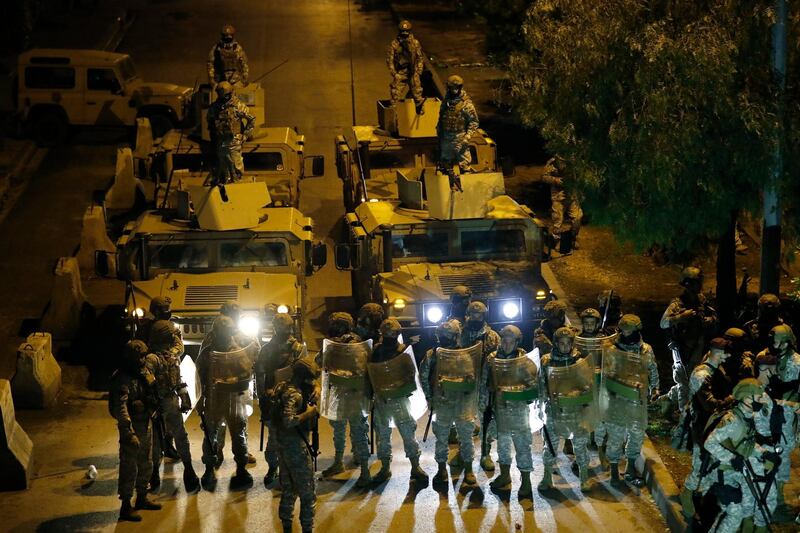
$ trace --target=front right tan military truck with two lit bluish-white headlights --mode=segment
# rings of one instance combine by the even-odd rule
[[[544,225],[505,195],[498,172],[465,174],[462,187],[452,191],[434,167],[395,171],[395,198],[347,212],[336,267],[351,271],[357,303],[382,303],[418,350],[448,317],[457,285],[486,303],[493,327],[516,324],[529,343],[553,297],[540,270]]]

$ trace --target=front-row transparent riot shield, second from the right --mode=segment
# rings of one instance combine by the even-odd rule
[[[569,366],[547,367],[547,400],[551,422],[565,434],[597,424],[594,359],[583,357]]]

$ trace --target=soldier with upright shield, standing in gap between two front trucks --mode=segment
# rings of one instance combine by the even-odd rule
[[[344,448],[347,436],[347,425],[350,424],[350,444],[353,456],[361,466],[361,476],[357,485],[366,487],[372,482],[369,473],[369,424],[367,412],[369,411],[369,398],[366,394],[366,361],[369,358],[371,344],[362,342],[361,338],[352,332],[353,317],[348,313],[331,313],[328,317],[328,338],[323,342],[320,352],[323,372],[325,375],[326,389],[322,392],[322,405],[327,406],[327,399],[335,407],[323,409],[322,416],[329,418],[333,428],[333,464],[323,470],[323,477],[330,477],[344,472]],[[346,345],[346,346],[343,346]],[[363,356],[363,357],[362,357]],[[363,371],[362,379],[356,387],[343,383],[344,374],[354,370]],[[348,380],[349,381],[349,380]]]

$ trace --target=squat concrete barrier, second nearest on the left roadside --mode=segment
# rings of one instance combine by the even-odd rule
[[[61,390],[61,367],[53,357],[49,333],[32,333],[17,350],[17,371],[11,380],[17,409],[45,409]]]

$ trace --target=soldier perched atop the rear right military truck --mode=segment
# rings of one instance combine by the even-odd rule
[[[411,34],[409,21],[401,21],[397,30],[397,38],[389,45],[389,51],[386,54],[386,65],[392,75],[392,83],[389,85],[392,105],[397,104],[406,98],[408,93],[411,93],[417,113],[422,114],[422,83],[419,79],[425,66],[422,46]]]

